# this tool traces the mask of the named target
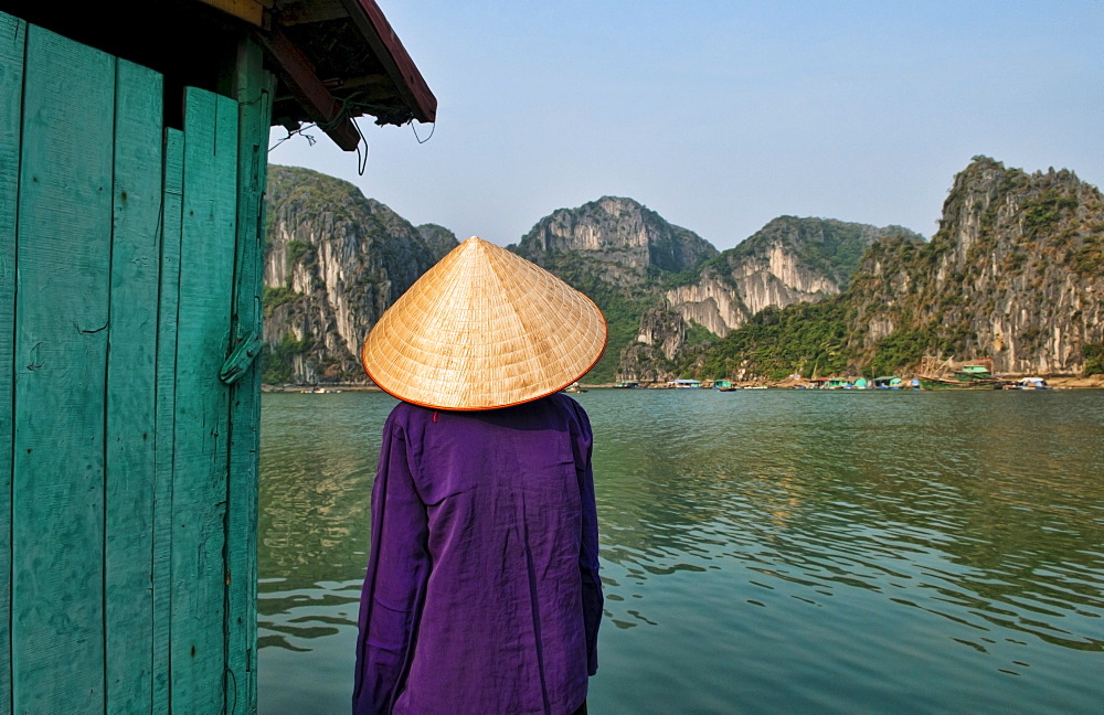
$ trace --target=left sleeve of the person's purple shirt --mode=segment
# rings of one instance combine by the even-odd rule
[[[372,487],[372,547],[360,602],[354,715],[391,713],[402,692],[429,575],[428,523],[392,413]]]

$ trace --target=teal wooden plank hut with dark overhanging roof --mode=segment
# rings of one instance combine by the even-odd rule
[[[255,712],[269,126],[435,110],[374,0],[0,2],[0,712]]]

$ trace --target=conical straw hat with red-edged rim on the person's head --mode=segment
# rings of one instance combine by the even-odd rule
[[[383,313],[361,361],[405,402],[492,409],[563,389],[605,346],[606,321],[590,298],[473,236]]]

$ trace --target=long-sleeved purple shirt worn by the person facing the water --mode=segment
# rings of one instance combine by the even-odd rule
[[[383,429],[357,715],[567,715],[602,618],[591,425],[565,395]]]

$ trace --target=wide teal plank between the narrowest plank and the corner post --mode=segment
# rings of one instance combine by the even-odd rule
[[[171,708],[224,705],[229,354],[237,212],[237,103],[194,88],[184,190],[172,497]]]

